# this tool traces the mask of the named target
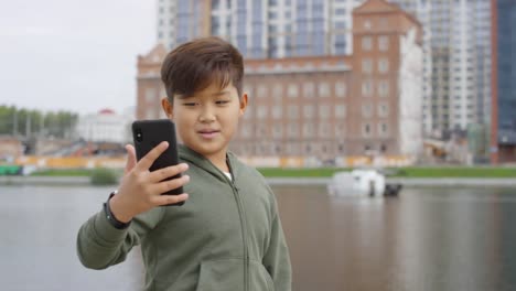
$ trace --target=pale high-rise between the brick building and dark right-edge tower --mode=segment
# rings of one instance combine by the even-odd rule
[[[491,1],[391,0],[424,31],[426,132],[464,130],[491,116]]]

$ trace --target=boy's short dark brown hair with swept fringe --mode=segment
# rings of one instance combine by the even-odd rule
[[[244,61],[230,43],[215,36],[186,42],[170,52],[161,66],[166,96],[192,96],[212,83],[225,88],[229,83],[241,96]]]

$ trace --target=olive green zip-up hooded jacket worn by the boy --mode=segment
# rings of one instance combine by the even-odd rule
[[[184,146],[190,197],[183,206],[157,207],[127,229],[104,211],[79,229],[82,263],[105,269],[141,245],[146,290],[290,291],[291,266],[275,195],[261,174],[228,153],[230,181]]]

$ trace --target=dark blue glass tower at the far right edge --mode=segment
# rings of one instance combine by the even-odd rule
[[[516,161],[516,1],[492,0],[492,162]]]

